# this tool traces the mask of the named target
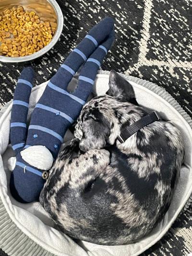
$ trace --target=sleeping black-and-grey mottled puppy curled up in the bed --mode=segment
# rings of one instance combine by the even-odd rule
[[[156,121],[124,143],[117,139],[148,113],[114,71],[107,94],[84,105],[75,138],[60,152],[40,195],[61,231],[95,244],[128,244],[164,217],[184,157],[180,131]]]

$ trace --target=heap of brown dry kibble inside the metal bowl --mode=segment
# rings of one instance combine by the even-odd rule
[[[0,12],[0,55],[24,57],[43,49],[51,41],[56,24],[41,21],[36,12],[22,6]]]

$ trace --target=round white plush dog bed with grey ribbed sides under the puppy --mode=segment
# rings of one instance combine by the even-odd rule
[[[97,75],[94,95],[108,90],[109,72]],[[84,241],[75,243],[70,237],[54,228],[39,203],[20,204],[9,191],[10,171],[7,160],[14,155],[9,145],[12,102],[0,111],[0,248],[14,256],[137,256],[155,244],[170,228],[192,194],[192,119],[180,105],[161,87],[147,81],[123,75],[131,82],[139,104],[160,112],[182,132],[185,143],[185,160],[180,171],[171,206],[156,229],[134,244],[107,246]],[[77,76],[72,85],[76,84]],[[47,83],[36,86],[30,98],[31,111],[40,98]],[[68,132],[66,140],[71,138]],[[189,199],[191,200],[191,199]]]

